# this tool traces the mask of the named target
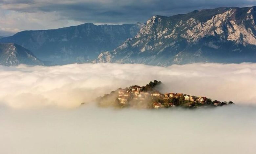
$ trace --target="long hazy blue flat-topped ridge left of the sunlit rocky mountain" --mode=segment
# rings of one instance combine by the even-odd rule
[[[31,50],[50,65],[86,63],[103,51],[113,50],[134,37],[144,24],[83,25],[51,30],[30,30],[2,38]]]

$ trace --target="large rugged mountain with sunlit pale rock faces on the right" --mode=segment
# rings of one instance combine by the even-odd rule
[[[95,62],[168,66],[256,62],[256,7],[153,16],[140,32]]]

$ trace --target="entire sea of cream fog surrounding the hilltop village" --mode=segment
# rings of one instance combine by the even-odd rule
[[[119,87],[230,101],[211,109],[99,108]],[[2,154],[254,154],[256,64],[0,66]],[[85,102],[86,105],[80,106]]]

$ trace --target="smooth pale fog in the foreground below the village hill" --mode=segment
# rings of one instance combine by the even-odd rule
[[[0,109],[3,154],[254,154],[256,108]]]

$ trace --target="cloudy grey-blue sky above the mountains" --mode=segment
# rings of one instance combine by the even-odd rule
[[[146,22],[216,7],[250,7],[256,0],[0,0],[0,36],[22,30]]]

